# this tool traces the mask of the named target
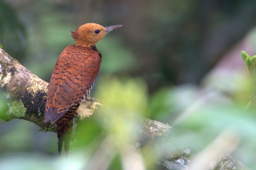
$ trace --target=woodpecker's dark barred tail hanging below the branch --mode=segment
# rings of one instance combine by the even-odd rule
[[[66,158],[68,157],[68,150],[69,150],[69,143],[71,141],[71,135],[72,135],[72,127],[73,127],[73,116],[62,116],[58,120],[58,151],[59,156],[61,153],[63,141],[64,141],[64,148],[65,148],[65,154]]]

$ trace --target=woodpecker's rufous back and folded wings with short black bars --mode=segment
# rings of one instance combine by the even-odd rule
[[[62,51],[52,72],[45,122],[57,121],[82,98],[99,73],[100,60],[100,53],[92,48],[70,45]]]

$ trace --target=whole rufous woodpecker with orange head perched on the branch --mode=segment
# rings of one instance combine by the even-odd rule
[[[46,98],[44,121],[58,121],[59,155],[64,142],[65,154],[68,157],[73,118],[81,100],[90,100],[92,85],[100,70],[101,54],[95,45],[110,31],[121,26],[103,27],[87,23],[71,31],[76,45],[66,47],[54,66]]]

